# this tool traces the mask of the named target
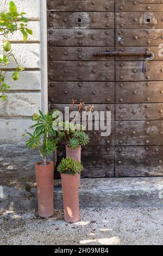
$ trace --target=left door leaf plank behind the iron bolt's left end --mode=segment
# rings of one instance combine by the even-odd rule
[[[48,60],[114,60],[114,57],[95,57],[93,53],[114,51],[114,47],[48,47]]]

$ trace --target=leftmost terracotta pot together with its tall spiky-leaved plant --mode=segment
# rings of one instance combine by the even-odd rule
[[[53,215],[53,185],[54,185],[54,162],[47,161],[47,157],[51,156],[54,150],[57,149],[57,144],[60,141],[58,131],[54,131],[52,124],[55,118],[58,117],[57,111],[53,114],[33,115],[35,124],[31,126],[35,131],[32,133],[24,133],[23,136],[28,138],[27,147],[37,149],[42,158],[42,161],[35,163],[35,173],[37,182],[37,199],[39,216],[50,217]]]

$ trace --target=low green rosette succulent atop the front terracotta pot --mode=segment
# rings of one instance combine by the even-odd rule
[[[64,174],[76,174],[83,170],[82,163],[79,163],[71,157],[63,158],[58,166],[58,172]]]

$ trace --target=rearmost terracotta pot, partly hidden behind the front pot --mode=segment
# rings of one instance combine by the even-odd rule
[[[82,147],[80,145],[76,149],[71,149],[70,147],[66,146],[66,157],[71,157],[72,159],[81,163],[81,151],[82,151]],[[80,185],[81,185],[81,175],[79,173],[79,187]]]

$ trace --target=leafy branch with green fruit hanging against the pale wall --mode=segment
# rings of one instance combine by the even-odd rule
[[[23,41],[26,42],[28,39],[28,34],[33,35],[31,29],[27,27],[28,19],[24,17],[26,13],[17,12],[16,5],[13,1],[10,1],[9,4],[9,11],[8,13],[0,13],[0,36],[4,37],[4,44],[3,44],[3,53],[0,53],[0,67],[5,66],[7,69],[7,64],[9,64],[9,58],[13,58],[16,63],[16,69],[12,74],[12,79],[14,81],[18,80],[19,72],[24,70],[18,65],[16,57],[12,52],[11,43],[8,40],[8,35],[14,34],[16,31],[20,31],[23,35]],[[7,96],[5,92],[10,89],[10,86],[5,82],[7,71],[2,71],[0,69],[0,98],[1,100],[7,100]]]

